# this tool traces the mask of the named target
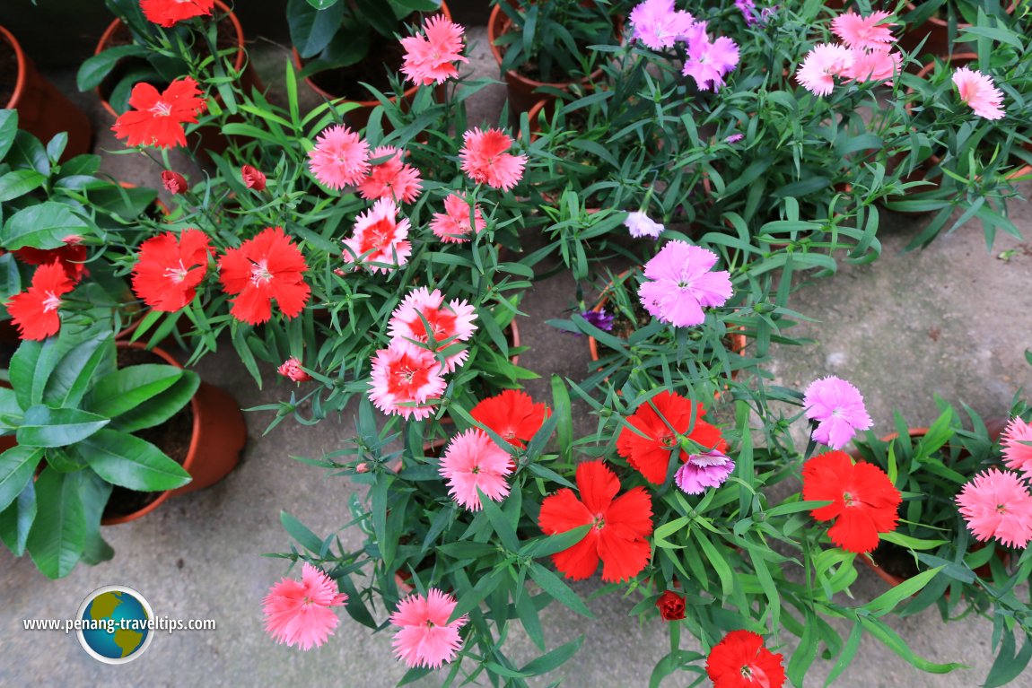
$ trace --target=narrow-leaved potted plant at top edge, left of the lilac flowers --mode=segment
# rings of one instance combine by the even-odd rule
[[[487,40],[505,75],[512,111],[555,99],[572,85],[598,78],[601,57],[590,45],[615,44],[621,23],[607,4],[580,0],[492,0]]]

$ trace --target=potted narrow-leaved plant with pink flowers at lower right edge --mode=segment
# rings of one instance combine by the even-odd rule
[[[1021,445],[1024,437],[1014,431],[1024,427],[1022,417],[1028,416],[1028,406],[1015,399],[1010,425],[1003,419],[982,420],[965,406],[971,426],[967,429],[952,406],[942,400],[938,405],[942,414],[931,427],[908,427],[897,415],[896,432],[880,439],[868,432],[854,443],[853,455],[888,470],[903,493],[899,527],[882,535],[870,559],[862,557],[862,561],[893,586],[921,574],[931,576],[924,590],[900,608],[901,615],[937,605],[942,618],[948,620],[966,607],[965,613],[994,620],[1012,618],[1019,634],[1032,636],[1032,605],[1019,596],[999,593],[1027,577],[1027,564],[1022,563],[1028,559],[1027,539],[1023,542],[1021,534],[1026,532],[1032,538],[1032,521],[1024,517],[1024,530],[1001,527],[996,537],[990,537],[987,522],[978,520],[974,506],[981,499],[979,489],[996,481],[997,490],[1004,484],[1024,486],[1018,493],[1024,489],[1025,500],[1032,507],[1027,485],[1010,470],[1021,463],[1008,458],[1026,449]],[[1012,494],[1005,503],[1017,512],[1024,509],[1018,502]],[[1007,539],[1014,533],[1018,542]],[[1003,635],[994,635],[997,657],[991,675],[1017,676],[1028,662],[1005,650],[1012,642],[1006,637],[1010,633],[1007,629]]]

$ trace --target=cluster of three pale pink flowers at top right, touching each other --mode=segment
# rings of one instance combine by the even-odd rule
[[[835,77],[845,81],[886,81],[900,71],[902,56],[893,52],[893,24],[889,12],[861,17],[852,10],[832,20],[832,31],[842,43],[815,45],[796,70],[796,80],[810,93],[827,96]]]

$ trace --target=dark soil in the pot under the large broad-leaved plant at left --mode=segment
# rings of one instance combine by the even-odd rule
[[[167,362],[160,356],[140,349],[118,350],[118,366],[120,368],[127,365],[140,365],[147,363],[157,363],[166,365]],[[187,455],[190,452],[190,440],[193,436],[194,417],[192,404],[188,403],[178,414],[169,418],[161,425],[156,425],[143,430],[137,430],[133,434],[140,439],[146,439],[170,459],[183,465],[186,463]],[[111,496],[107,499],[104,507],[104,519],[116,519],[128,516],[140,511],[151,502],[155,501],[164,492],[139,492],[116,485],[111,489]]]

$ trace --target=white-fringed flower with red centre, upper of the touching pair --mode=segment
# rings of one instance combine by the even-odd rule
[[[406,339],[425,345],[428,351],[443,352],[454,348],[459,341],[467,341],[477,326],[477,310],[465,301],[452,299],[445,304],[441,290],[432,292],[426,287],[413,290],[391,314],[387,333],[394,339]],[[425,322],[424,322],[425,321]],[[426,326],[433,335],[433,346],[429,346]],[[445,358],[445,371],[452,372],[465,362],[465,349]]]

